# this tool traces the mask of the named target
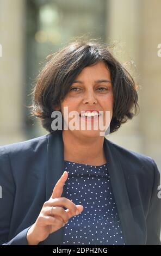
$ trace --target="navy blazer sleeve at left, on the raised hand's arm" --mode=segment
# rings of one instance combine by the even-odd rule
[[[10,222],[14,208],[16,185],[11,170],[9,156],[4,147],[0,147],[0,245],[27,245],[27,231],[21,231],[9,241]]]

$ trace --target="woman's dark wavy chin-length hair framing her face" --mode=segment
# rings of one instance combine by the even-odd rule
[[[137,87],[129,72],[110,52],[109,47],[98,42],[73,42],[52,54],[36,78],[32,92],[32,115],[40,118],[42,126],[53,133],[51,113],[53,106],[60,107],[78,74],[86,67],[103,61],[110,70],[114,106],[110,133],[119,129],[137,114]]]

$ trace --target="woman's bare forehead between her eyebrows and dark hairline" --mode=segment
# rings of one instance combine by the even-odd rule
[[[98,62],[92,66],[86,66],[77,76],[79,79],[83,78],[105,79],[110,78],[110,71],[104,62]]]

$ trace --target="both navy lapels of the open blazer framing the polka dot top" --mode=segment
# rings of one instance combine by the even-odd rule
[[[104,138],[104,153],[107,159],[110,182],[112,184],[117,211],[120,217],[122,234],[126,245],[139,245],[137,226],[134,222],[131,205],[129,203],[126,181],[121,162],[112,143]],[[46,172],[46,200],[51,197],[53,188],[65,170],[64,144],[62,132],[48,135],[47,172]],[[64,197],[64,192],[62,197]],[[52,233],[41,244],[62,245],[64,228]]]

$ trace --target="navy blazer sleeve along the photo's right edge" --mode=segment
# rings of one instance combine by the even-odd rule
[[[153,191],[150,201],[150,208],[146,218],[147,240],[146,245],[161,245],[161,198],[159,197],[160,174],[156,163],[152,160],[154,167]]]

